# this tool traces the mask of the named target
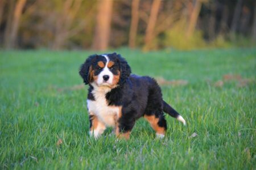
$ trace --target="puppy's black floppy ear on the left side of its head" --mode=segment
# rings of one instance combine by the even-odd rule
[[[89,84],[92,81],[92,60],[97,54],[89,56],[86,61],[81,65],[79,74],[84,79],[85,84]]]

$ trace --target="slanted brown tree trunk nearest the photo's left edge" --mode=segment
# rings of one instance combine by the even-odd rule
[[[20,15],[22,14],[22,10],[26,1],[27,0],[19,0],[18,2],[16,2],[13,16],[13,24],[10,31],[10,44],[9,46],[7,46],[7,48],[14,48],[16,45]]]

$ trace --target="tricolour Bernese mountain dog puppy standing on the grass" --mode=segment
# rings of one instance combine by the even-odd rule
[[[89,134],[99,137],[106,127],[113,127],[118,138],[129,139],[135,121],[144,117],[164,137],[167,124],[164,112],[185,120],[162,98],[156,80],[131,74],[131,68],[120,54],[94,54],[81,65],[79,74],[89,84],[87,108]]]

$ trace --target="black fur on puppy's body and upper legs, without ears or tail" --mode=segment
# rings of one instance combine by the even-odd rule
[[[106,99],[109,105],[122,105],[119,129],[123,132],[131,130],[144,114],[159,118],[158,125],[167,129],[160,87],[148,76],[130,75],[125,84],[108,92]]]

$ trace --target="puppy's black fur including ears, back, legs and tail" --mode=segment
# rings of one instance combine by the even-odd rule
[[[90,56],[81,66],[80,75],[85,84],[90,83],[88,79],[89,67],[94,66],[94,61],[97,61],[98,57],[96,54]],[[122,116],[118,120],[119,131],[130,131],[133,129],[135,121],[145,115],[159,118],[158,126],[167,129],[163,111],[172,117],[179,116],[179,113],[163,100],[162,92],[156,80],[149,76],[131,74],[130,66],[119,54],[108,54],[108,57],[118,63],[115,69],[121,73],[118,86],[106,94],[109,105],[122,106]],[[90,86],[88,90],[89,100],[95,100],[92,91],[93,87]]]

